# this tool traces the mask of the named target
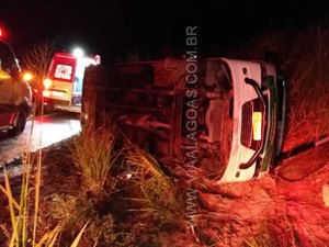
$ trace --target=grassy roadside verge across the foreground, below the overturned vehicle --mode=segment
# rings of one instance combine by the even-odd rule
[[[200,171],[195,170],[196,179],[191,183],[184,176],[167,176],[156,159],[125,142],[112,126],[82,133],[44,149],[39,175],[35,165],[23,173],[23,181],[30,178],[27,190],[23,186],[20,192],[16,180],[5,180],[12,189],[4,186],[7,195],[0,198],[3,209],[9,210],[0,218],[5,221],[0,231],[3,246],[18,239],[15,227],[7,221],[13,216],[10,212],[16,212],[13,218],[25,226],[18,235],[21,240],[11,246],[42,246],[37,245],[41,242],[71,246],[77,236],[81,236],[81,247],[326,246],[329,213],[319,191],[329,178],[328,167],[296,182],[271,175],[220,186],[197,177]],[[102,136],[113,133],[115,142],[98,148],[101,154],[91,151]],[[93,146],[86,148],[87,143]],[[75,158],[81,148],[88,153],[81,157],[90,165],[102,157],[100,167],[93,169],[102,172],[93,177],[81,166],[83,161]],[[103,157],[107,161],[102,162]],[[196,191],[193,227],[185,214],[188,184]],[[18,206],[20,193],[26,199],[25,210]]]

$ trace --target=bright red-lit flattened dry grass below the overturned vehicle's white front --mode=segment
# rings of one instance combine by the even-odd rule
[[[329,213],[318,195],[328,176],[296,182],[270,176],[222,186],[204,181],[200,239],[214,246],[326,246]]]

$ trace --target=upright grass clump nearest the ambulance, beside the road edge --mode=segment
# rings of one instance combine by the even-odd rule
[[[115,150],[114,144],[115,127],[109,122],[104,122],[100,127],[89,124],[73,137],[73,162],[81,172],[87,191],[95,197],[104,194],[104,187],[109,186],[109,182],[112,189],[115,186],[110,170],[120,151]]]

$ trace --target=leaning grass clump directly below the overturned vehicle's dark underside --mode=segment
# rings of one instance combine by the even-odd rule
[[[131,181],[135,189],[131,200],[137,202],[133,209],[145,218],[162,224],[182,225],[184,220],[183,197],[180,187],[168,177],[150,154],[134,147],[126,155],[128,168],[135,172]]]

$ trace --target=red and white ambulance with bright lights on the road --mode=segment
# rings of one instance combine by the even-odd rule
[[[100,63],[99,55],[83,56],[81,50],[56,52],[44,80],[44,106],[80,113],[84,69]]]

